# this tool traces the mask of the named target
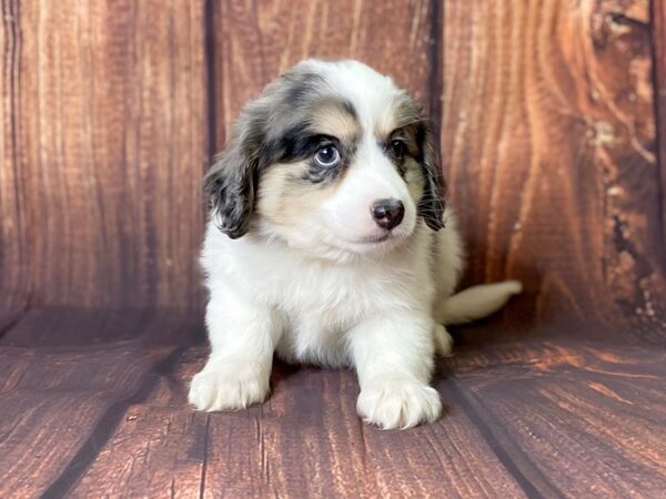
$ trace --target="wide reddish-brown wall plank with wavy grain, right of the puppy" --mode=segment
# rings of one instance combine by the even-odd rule
[[[648,3],[454,0],[442,23],[468,282],[522,279],[504,313],[516,325],[632,317],[633,334],[663,339]]]

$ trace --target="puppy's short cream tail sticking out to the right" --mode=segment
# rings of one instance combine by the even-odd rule
[[[468,287],[442,304],[437,313],[437,322],[448,326],[486,317],[497,312],[508,302],[508,298],[522,291],[523,285],[518,281]]]

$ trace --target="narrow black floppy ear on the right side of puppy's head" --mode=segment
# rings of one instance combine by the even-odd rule
[[[421,167],[425,186],[423,196],[418,203],[417,212],[423,217],[428,227],[438,231],[444,227],[444,195],[446,194],[446,183],[440,169],[438,155],[435,146],[434,133],[430,125],[424,125],[420,131],[423,156]]]

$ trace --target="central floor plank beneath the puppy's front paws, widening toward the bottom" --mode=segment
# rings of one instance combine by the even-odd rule
[[[71,496],[523,497],[460,406],[430,427],[381,431],[359,420],[350,371],[279,365],[265,405],[194,414],[184,387],[204,354],[188,352],[128,408]]]

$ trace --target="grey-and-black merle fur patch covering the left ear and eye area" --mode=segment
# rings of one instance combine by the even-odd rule
[[[230,237],[248,231],[254,208],[256,182],[275,163],[302,161],[313,155],[324,140],[311,130],[319,105],[339,105],[352,118],[351,102],[332,93],[320,74],[294,68],[270,83],[262,95],[245,105],[235,121],[232,139],[215,156],[204,177],[204,192],[219,228]],[[342,151],[341,151],[342,153]],[[324,183],[340,174],[339,169],[311,167],[307,180]]]

